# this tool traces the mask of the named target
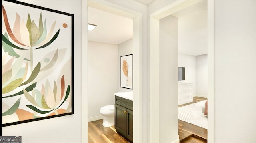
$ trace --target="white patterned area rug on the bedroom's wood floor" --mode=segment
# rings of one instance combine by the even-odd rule
[[[207,129],[207,116],[202,113],[204,101],[192,103],[178,108],[178,119]]]

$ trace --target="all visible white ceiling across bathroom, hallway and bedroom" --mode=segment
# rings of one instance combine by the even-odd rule
[[[154,0],[137,1],[148,5]],[[179,53],[207,54],[207,1],[172,15],[179,18]],[[132,19],[88,7],[88,23],[97,25],[88,31],[89,41],[118,45],[132,38]]]

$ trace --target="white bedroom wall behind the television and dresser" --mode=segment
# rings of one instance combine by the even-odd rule
[[[196,96],[196,56],[178,54],[178,67],[185,67],[185,81],[193,82],[193,96]]]

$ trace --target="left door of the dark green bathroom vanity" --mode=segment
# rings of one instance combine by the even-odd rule
[[[126,108],[115,104],[115,129],[126,137]]]

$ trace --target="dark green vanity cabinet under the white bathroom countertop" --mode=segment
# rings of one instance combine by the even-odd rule
[[[115,96],[115,129],[132,142],[132,100]]]

